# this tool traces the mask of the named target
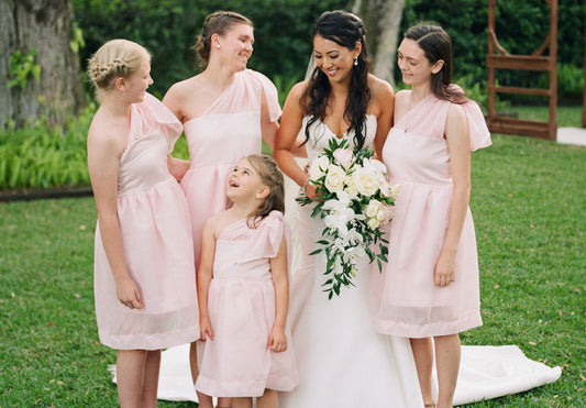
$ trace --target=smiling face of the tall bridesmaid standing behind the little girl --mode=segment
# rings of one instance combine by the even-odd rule
[[[212,48],[219,52],[223,64],[233,66],[234,71],[246,69],[253,44],[254,30],[248,24],[234,24],[224,35],[212,37]]]

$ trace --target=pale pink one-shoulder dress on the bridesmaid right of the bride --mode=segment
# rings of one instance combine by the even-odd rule
[[[382,333],[425,338],[482,324],[476,236],[469,208],[456,254],[455,282],[434,284],[434,268],[447,230],[453,183],[444,137],[451,102],[428,96],[390,130],[383,159],[400,186],[383,275],[373,272],[374,326]],[[478,106],[464,106],[471,151],[491,144]]]

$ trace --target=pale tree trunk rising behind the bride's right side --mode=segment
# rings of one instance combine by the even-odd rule
[[[405,0],[354,0],[352,12],[366,24],[373,74],[395,85],[397,42]]]

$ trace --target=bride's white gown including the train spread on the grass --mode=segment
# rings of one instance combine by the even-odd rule
[[[372,144],[375,117],[367,117],[366,128],[367,144]],[[310,161],[334,137],[322,123],[311,129],[306,145]],[[320,287],[325,280],[324,257],[307,255],[316,249],[323,223],[310,218],[310,208],[298,207],[299,187],[290,180],[287,184],[285,216],[297,241],[289,319],[300,384],[280,394],[280,408],[422,407],[409,341],[372,329],[369,265],[365,262],[361,267],[355,287],[343,287],[340,297],[328,300]],[[555,382],[560,375],[560,367],[529,360],[515,345],[463,346],[454,405],[520,393]],[[188,344],[163,352],[158,398],[197,401]]]

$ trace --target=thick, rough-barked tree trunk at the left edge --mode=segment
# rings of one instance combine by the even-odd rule
[[[73,18],[71,0],[0,0],[0,129],[42,117],[49,124],[63,123],[84,104],[79,60],[69,45]],[[30,73],[9,86],[15,52],[36,53],[38,80]]]

